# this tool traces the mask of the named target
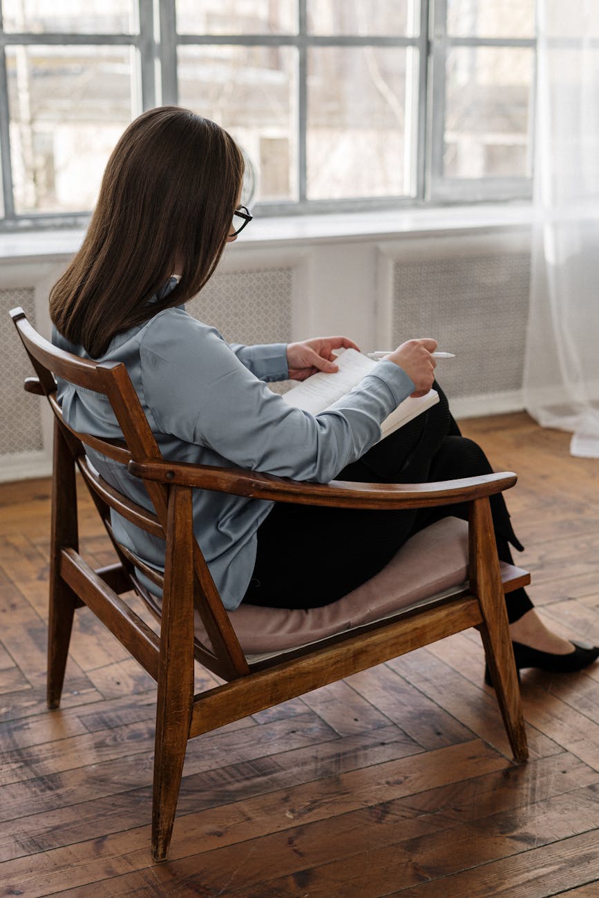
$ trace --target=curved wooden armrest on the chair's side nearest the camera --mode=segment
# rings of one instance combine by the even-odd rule
[[[306,483],[242,469],[152,461],[131,461],[128,463],[128,470],[142,480],[196,489],[214,489],[217,492],[268,499],[272,502],[370,509],[422,508],[470,502],[509,489],[517,480],[512,471],[503,471],[438,483],[350,483],[344,480]]]

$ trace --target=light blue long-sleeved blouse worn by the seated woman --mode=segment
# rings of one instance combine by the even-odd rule
[[[53,342],[87,357],[56,330]],[[408,374],[379,362],[357,387],[313,417],[294,409],[266,382],[288,377],[286,345],[229,345],[218,331],[182,307],[166,309],[115,337],[98,361],[124,362],[165,459],[238,466],[327,482],[374,445],[380,423],[410,392]],[[58,382],[70,427],[95,436],[122,436],[109,402],[98,393]],[[142,481],[90,449],[101,476],[148,509]],[[249,585],[258,527],[271,502],[195,490],[194,530],[225,607],[236,608]],[[113,513],[117,539],[163,570],[164,543]],[[155,592],[155,585],[147,584]]]

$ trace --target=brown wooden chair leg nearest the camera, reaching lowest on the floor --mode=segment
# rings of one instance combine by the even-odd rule
[[[160,665],[156,705],[152,857],[164,860],[172,836],[193,705],[193,542],[191,490],[169,496]]]

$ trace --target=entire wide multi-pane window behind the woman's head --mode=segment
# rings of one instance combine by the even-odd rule
[[[0,10],[4,230],[89,214],[118,136],[157,103],[231,131],[259,215],[530,195],[534,0]]]

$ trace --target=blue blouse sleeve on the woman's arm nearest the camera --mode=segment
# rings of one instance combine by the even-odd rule
[[[414,390],[398,365],[381,362],[314,417],[287,405],[214,328],[180,309],[156,315],[140,356],[145,403],[163,433],[297,480],[332,480],[377,442],[381,422]]]

